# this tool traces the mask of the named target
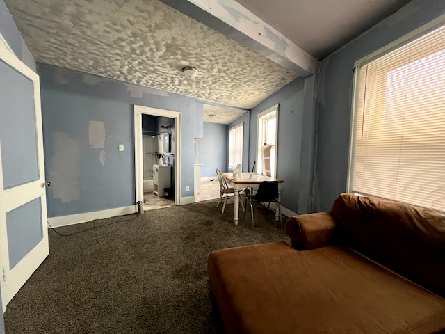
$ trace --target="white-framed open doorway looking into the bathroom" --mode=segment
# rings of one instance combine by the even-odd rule
[[[136,202],[181,204],[181,113],[134,106]]]

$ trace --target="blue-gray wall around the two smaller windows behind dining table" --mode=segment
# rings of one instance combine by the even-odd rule
[[[305,214],[312,209],[312,175],[314,170],[314,143],[316,113],[314,111],[314,77],[298,78],[268,99],[255,106],[229,125],[245,121],[245,145],[248,145],[244,171],[252,169],[257,159],[258,114],[275,104],[278,112],[277,178],[284,180],[282,205],[292,212]],[[247,141],[248,138],[248,141]]]

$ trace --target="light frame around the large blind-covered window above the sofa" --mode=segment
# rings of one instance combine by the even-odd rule
[[[404,47],[405,45],[409,44],[410,42],[417,40],[419,38],[422,38],[424,35],[428,35],[428,33],[431,33],[432,31],[435,31],[437,29],[440,29],[441,27],[445,26],[445,15],[441,15],[437,17],[436,19],[433,19],[431,22],[428,22],[428,24],[424,24],[423,26],[420,26],[418,29],[414,29],[414,31],[407,33],[406,35],[403,35],[401,38],[398,38],[397,40],[394,40],[393,42],[389,43],[385,47],[381,47],[380,49],[372,52],[371,54],[364,56],[363,58],[360,58],[358,61],[354,63],[354,69],[353,69],[353,95],[352,95],[352,103],[351,103],[351,109],[350,109],[350,141],[349,141],[349,148],[348,148],[348,174],[347,174],[347,184],[346,184],[346,191],[351,192],[353,191],[353,175],[354,175],[354,157],[355,157],[355,145],[357,143],[357,113],[358,113],[358,101],[359,101],[359,82],[360,82],[360,70],[363,66],[371,63],[372,61],[375,61],[378,58],[381,58],[392,51],[399,49],[401,47]],[[380,197],[378,195],[374,194],[367,194],[367,193],[359,193],[355,191],[354,193],[362,195],[362,196],[374,196],[374,197]],[[398,202],[402,202],[401,200],[396,200]],[[419,207],[422,207],[422,205],[417,205]],[[432,209],[430,207],[427,207],[428,209]],[[432,209],[435,210],[435,209]],[[437,211],[437,210],[435,210]],[[443,212],[442,212],[443,213]]]

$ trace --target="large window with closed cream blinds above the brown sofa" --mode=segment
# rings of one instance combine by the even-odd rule
[[[349,190],[445,212],[445,27],[357,74]]]

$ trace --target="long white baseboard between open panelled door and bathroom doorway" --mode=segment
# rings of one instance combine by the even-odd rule
[[[130,205],[129,207],[116,207],[114,209],[85,212],[83,214],[70,214],[68,216],[51,217],[48,218],[48,223],[53,228],[59,228],[60,226],[85,223],[86,221],[94,221],[95,219],[124,216],[125,214],[134,214],[136,212],[138,212],[136,205]]]

